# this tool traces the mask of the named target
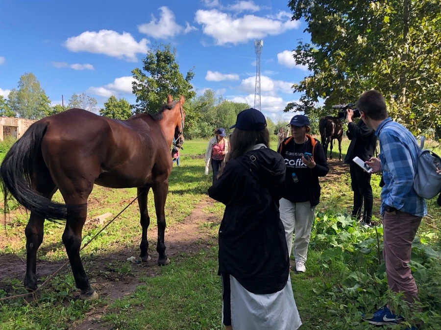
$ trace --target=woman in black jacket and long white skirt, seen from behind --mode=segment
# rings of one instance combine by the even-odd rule
[[[226,206],[219,229],[223,323],[234,330],[295,330],[301,321],[277,206],[285,165],[269,148],[260,111],[240,112],[233,127],[225,166],[208,189]]]

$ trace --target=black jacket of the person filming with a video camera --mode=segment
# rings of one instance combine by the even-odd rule
[[[375,131],[360,119],[357,124],[350,122],[347,124],[346,135],[351,143],[347,148],[344,163],[354,164],[352,159],[359,157],[362,161],[367,161],[374,155],[377,137]]]

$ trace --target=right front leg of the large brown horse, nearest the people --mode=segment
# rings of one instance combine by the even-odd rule
[[[158,265],[167,265],[170,263],[169,258],[165,254],[166,246],[164,244],[164,235],[166,227],[165,219],[165,203],[167,200],[167,193],[169,192],[169,181],[164,179],[158,181],[158,183],[153,187],[153,193],[155,198],[155,210],[156,218],[158,219],[158,242],[156,245],[156,251],[158,251]]]

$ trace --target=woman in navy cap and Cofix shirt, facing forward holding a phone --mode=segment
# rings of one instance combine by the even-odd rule
[[[285,226],[289,254],[295,232],[295,270],[303,273],[316,206],[320,201],[319,176],[328,174],[329,167],[323,147],[307,134],[311,130],[308,117],[296,115],[289,126],[292,137],[279,147],[286,165],[286,190],[280,200],[280,218]]]

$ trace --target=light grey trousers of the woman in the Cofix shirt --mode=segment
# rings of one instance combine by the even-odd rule
[[[295,262],[306,262],[308,253],[309,238],[314,222],[316,207],[311,208],[311,202],[293,203],[288,199],[280,200],[280,219],[285,227],[286,244],[288,253],[291,255],[293,249],[294,235],[294,257]]]

